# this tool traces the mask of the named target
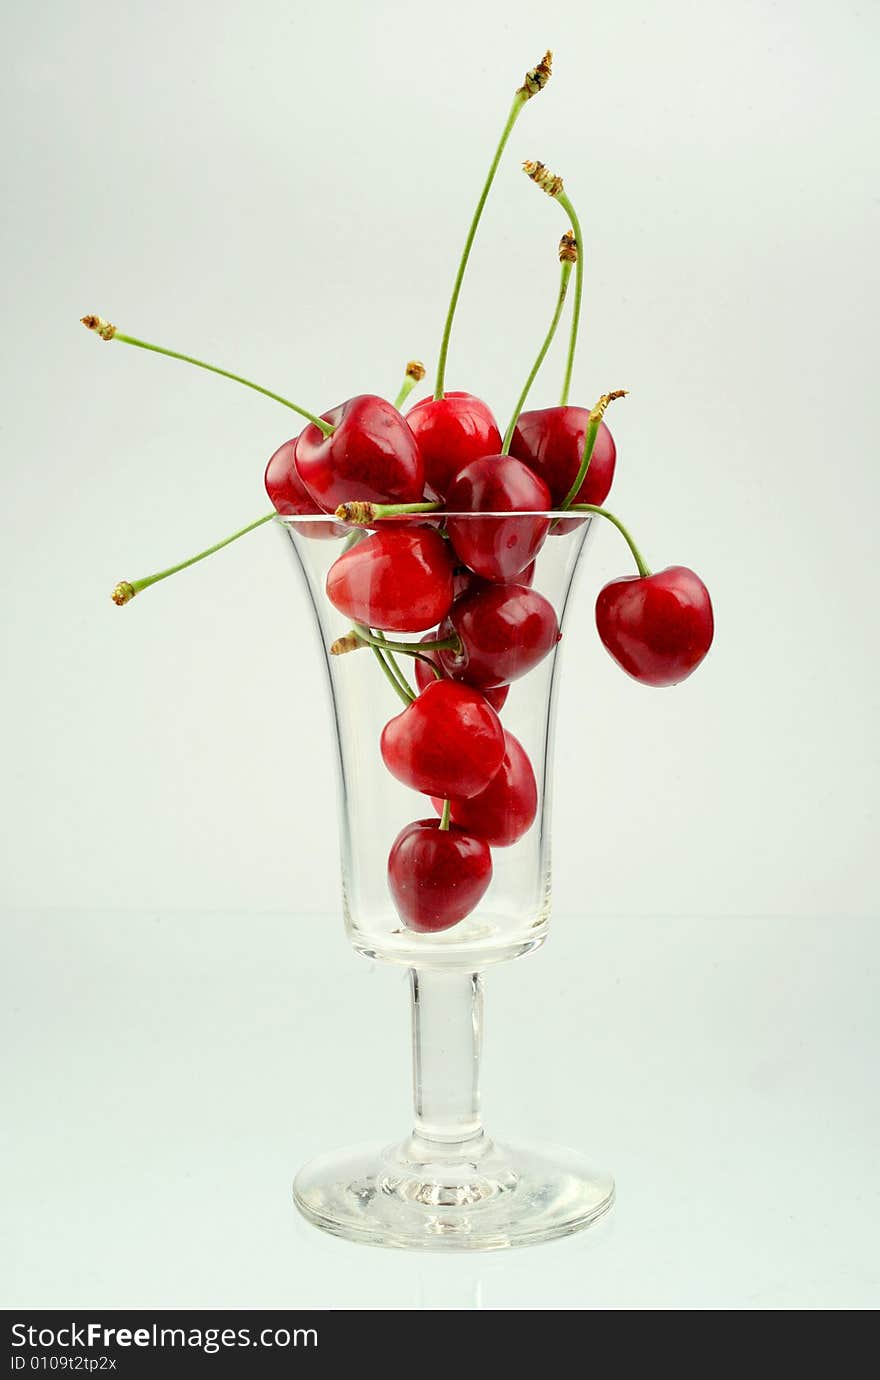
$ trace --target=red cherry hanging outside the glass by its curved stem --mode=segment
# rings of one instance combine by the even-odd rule
[[[623,671],[674,686],[706,656],[714,633],[709,591],[686,566],[612,580],[596,600],[596,627]]]

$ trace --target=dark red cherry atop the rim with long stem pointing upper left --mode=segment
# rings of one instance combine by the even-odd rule
[[[415,436],[396,407],[361,393],[324,413],[335,431],[324,436],[312,422],[297,442],[297,469],[324,512],[363,500],[417,504],[425,491],[425,466]]]

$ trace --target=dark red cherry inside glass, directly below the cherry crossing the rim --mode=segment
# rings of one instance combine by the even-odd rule
[[[481,689],[524,676],[561,636],[553,606],[526,585],[484,585],[457,599],[439,632],[462,643],[461,653],[439,653],[446,673]]]

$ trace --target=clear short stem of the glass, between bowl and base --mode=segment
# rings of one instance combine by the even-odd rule
[[[483,983],[479,973],[414,967],[410,989],[414,1138],[436,1154],[483,1136]]]

